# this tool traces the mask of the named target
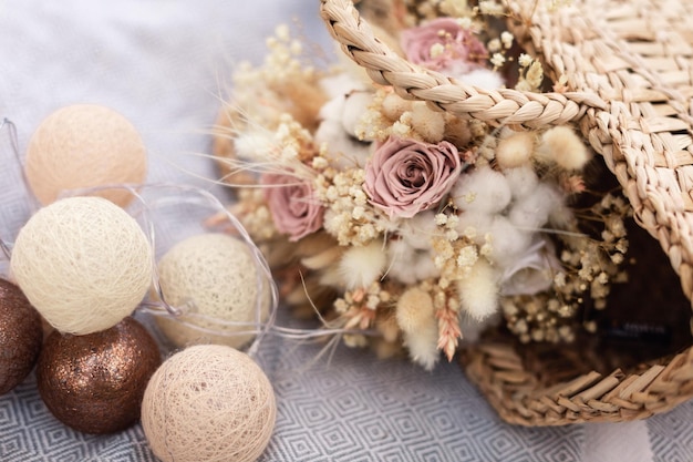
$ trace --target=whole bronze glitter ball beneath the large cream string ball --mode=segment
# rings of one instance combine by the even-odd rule
[[[135,423],[149,378],[162,362],[155,340],[125,318],[85,336],[53,331],[37,366],[39,392],[64,424],[84,433],[114,433]]]

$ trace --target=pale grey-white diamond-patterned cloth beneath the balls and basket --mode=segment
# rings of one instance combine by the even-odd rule
[[[317,1],[239,4],[0,0],[0,117],[17,124],[23,148],[55,109],[104,104],[143,134],[149,182],[209,187],[201,178],[214,177],[214,166],[193,153],[209,152],[206,133],[232,64],[258,62],[265,38],[294,18],[310,40],[331,49]],[[11,238],[31,208],[4,131],[0,158],[0,235]],[[316,352],[316,347],[282,339],[260,351],[279,402],[277,430],[263,460],[693,460],[691,403],[647,422],[523,429],[501,423],[456,365],[427,373],[405,361],[380,362],[342,348],[329,365],[303,370]],[[66,429],[48,413],[30,377],[0,397],[0,460],[154,456],[139,425],[107,437]]]

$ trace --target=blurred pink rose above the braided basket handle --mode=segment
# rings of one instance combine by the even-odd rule
[[[408,61],[435,71],[459,69],[464,64],[470,71],[488,57],[486,47],[472,31],[452,18],[437,18],[406,29],[400,40]]]

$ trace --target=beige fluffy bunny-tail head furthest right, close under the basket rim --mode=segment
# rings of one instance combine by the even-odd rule
[[[554,162],[567,171],[580,171],[591,158],[582,140],[565,125],[544,133],[536,156],[539,162]]]

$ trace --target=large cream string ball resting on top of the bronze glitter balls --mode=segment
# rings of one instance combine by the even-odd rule
[[[22,227],[10,270],[29,301],[61,332],[115,326],[152,283],[152,246],[137,222],[102,197],[70,197]]]

